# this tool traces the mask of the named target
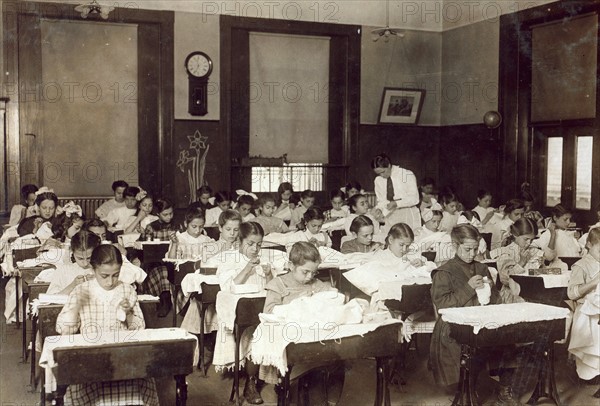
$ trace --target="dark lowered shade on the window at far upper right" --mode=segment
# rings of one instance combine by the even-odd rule
[[[598,16],[532,28],[531,120],[596,116]]]

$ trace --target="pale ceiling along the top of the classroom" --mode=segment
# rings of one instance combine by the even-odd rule
[[[21,0],[24,1],[24,0]],[[51,1],[51,0],[41,0]],[[91,1],[91,0],[90,0]],[[386,0],[98,0],[117,7],[385,26]],[[555,0],[389,0],[390,26],[444,31]],[[63,3],[87,3],[67,0]]]

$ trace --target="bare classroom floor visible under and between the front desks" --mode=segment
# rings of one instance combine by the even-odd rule
[[[0,310],[3,314],[3,288],[0,289]],[[170,321],[171,316],[160,319],[165,327]],[[433,376],[427,370],[427,351],[422,354],[419,352],[416,350],[409,352],[406,371],[407,384],[402,387],[391,387],[392,404],[450,405],[452,394],[445,393],[443,389],[435,386]],[[557,382],[563,404],[600,406],[600,400],[591,396],[597,390],[597,386],[584,385],[578,380],[573,364],[567,362],[565,346],[557,346],[556,353]],[[372,405],[375,393],[375,362],[356,360],[349,362],[346,369],[346,383],[339,404],[341,406]],[[492,404],[495,400],[495,381],[483,375],[479,381],[480,398],[485,404]],[[207,377],[195,372],[188,376],[188,405],[230,405],[228,399],[231,382],[229,377],[223,378],[222,375],[215,373],[214,369],[209,370]],[[28,383],[29,363],[23,364],[21,360],[21,330],[17,330],[14,324],[6,325],[2,316],[0,317],[0,406],[39,404],[39,393],[31,393]],[[161,379],[157,381],[157,385],[161,405],[174,405],[174,381]],[[262,395],[266,405],[276,404],[273,386],[265,386],[262,389]],[[523,401],[528,399],[528,395],[529,393],[523,394]]]

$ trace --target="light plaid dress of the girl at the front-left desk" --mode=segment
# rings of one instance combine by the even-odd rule
[[[133,312],[122,322],[117,319],[118,304],[127,299]],[[69,314],[79,307],[75,323]],[[118,334],[119,331],[145,328],[144,317],[137,303],[137,294],[131,285],[119,282],[112,290],[104,290],[96,281],[78,285],[69,295],[67,304],[58,315],[56,331],[59,334],[88,335],[90,339],[100,334]],[[127,334],[123,334],[123,339]],[[90,366],[93,368],[94,366]],[[159,406],[154,379],[95,382],[70,385],[65,397],[66,405],[149,405]]]

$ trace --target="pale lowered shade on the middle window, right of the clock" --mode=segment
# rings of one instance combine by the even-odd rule
[[[329,37],[250,33],[250,156],[328,162]]]

